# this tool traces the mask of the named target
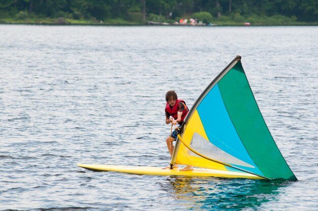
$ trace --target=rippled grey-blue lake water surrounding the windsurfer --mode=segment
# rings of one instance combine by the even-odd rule
[[[317,210],[318,27],[0,25],[0,209]],[[236,55],[297,182],[92,172],[167,166],[165,93],[189,107]]]

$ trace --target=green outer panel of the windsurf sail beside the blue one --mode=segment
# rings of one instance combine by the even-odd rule
[[[263,119],[241,61],[239,60],[217,84],[246,151],[265,177],[297,180]]]

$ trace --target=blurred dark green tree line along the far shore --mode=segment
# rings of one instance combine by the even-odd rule
[[[193,13],[213,19],[285,16],[318,22],[317,0],[0,0],[0,18],[177,20]]]

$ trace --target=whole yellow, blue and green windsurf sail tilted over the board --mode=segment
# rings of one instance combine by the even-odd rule
[[[180,128],[171,163],[294,180],[237,56],[207,86]]]

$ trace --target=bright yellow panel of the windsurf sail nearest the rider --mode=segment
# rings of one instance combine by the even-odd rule
[[[197,111],[194,112],[192,118],[189,120],[186,126],[186,130],[184,130],[184,133],[182,134],[182,139],[185,144],[190,145],[195,133],[201,135],[206,139],[207,142],[209,142]],[[176,157],[174,163],[181,165],[192,165],[203,168],[213,168],[218,170],[227,170],[227,168],[222,164],[215,163],[200,156],[197,156],[188,148],[186,148],[182,143],[179,144],[178,148],[179,150],[177,151],[177,155],[174,156]]]

